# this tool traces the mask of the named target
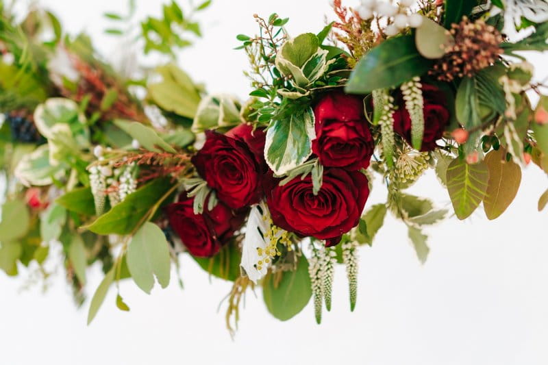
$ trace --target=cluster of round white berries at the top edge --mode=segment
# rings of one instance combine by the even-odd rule
[[[408,14],[415,2],[416,0],[400,0],[398,5],[394,5],[391,1],[362,0],[358,15],[364,20],[371,19],[375,15],[390,18],[391,21],[388,21],[384,34],[395,36],[407,27],[418,28],[422,25],[421,14]]]

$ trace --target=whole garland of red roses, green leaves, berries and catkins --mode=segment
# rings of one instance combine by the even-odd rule
[[[245,102],[208,95],[175,66],[173,47],[200,34],[175,2],[140,24],[144,53],[172,61],[140,80],[114,73],[87,36],[64,36],[53,14],[27,14],[42,20],[29,27],[0,8],[0,268],[18,275],[35,262],[44,272],[60,244],[81,303],[86,268],[99,262],[91,322],[108,288],[129,310],[119,281],[164,288],[188,253],[233,282],[232,331],[256,286],[280,320],[313,297],[320,323],[344,264],[353,310],[358,251],[387,212],[427,259],[423,229],[449,212],[406,189],[428,168],[459,219],[481,204],[489,219],[503,214],[525,164],[548,173],[548,97],[519,53],[548,50],[548,5],[519,4],[334,0],[336,21],[296,36],[287,18],[256,15],[258,35],[237,36],[250,63]],[[522,28],[528,36],[508,40]],[[388,187],[384,204],[367,203],[373,174]],[[547,203],[548,190],[538,210]]]

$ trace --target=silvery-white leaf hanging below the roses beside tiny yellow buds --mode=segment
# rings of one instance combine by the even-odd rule
[[[269,218],[269,208],[264,202],[253,205],[247,217],[240,268],[255,284],[269,270],[269,265],[266,264],[263,264],[260,270],[257,268],[257,262],[261,260],[258,249],[265,249],[270,244],[266,242],[266,232],[270,230]]]

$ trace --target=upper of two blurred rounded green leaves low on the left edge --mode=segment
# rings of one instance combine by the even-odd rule
[[[6,201],[2,205],[0,221],[0,242],[21,238],[29,231],[30,216],[23,200]]]

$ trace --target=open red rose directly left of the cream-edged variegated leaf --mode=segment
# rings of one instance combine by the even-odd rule
[[[229,207],[239,209],[259,202],[260,164],[242,140],[206,131],[206,143],[192,163]]]

